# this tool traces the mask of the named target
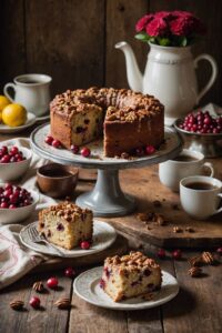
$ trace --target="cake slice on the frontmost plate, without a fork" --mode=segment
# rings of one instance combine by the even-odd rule
[[[148,294],[161,287],[161,269],[141,252],[107,258],[100,286],[114,302]]]

